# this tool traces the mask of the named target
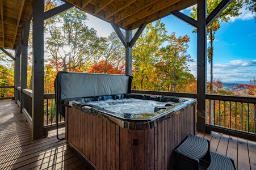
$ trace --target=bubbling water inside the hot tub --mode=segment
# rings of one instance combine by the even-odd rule
[[[166,102],[141,99],[108,99],[104,101],[90,101],[93,105],[98,105],[108,111],[115,113],[154,113],[155,107],[165,107]]]

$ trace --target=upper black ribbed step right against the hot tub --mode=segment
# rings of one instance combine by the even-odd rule
[[[209,141],[190,134],[174,150],[174,169],[199,169],[200,159],[207,153],[209,153]]]

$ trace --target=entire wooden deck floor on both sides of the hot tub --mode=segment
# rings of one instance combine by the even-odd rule
[[[15,101],[0,101],[0,169],[89,169],[65,141],[56,138],[56,131],[33,140],[19,111]],[[219,133],[198,136],[211,141],[212,151],[233,158],[237,169],[256,170],[256,142]]]

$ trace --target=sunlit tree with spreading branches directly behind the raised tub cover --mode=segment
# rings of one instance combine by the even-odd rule
[[[49,61],[63,71],[79,70],[98,52],[99,37],[93,28],[86,26],[87,16],[82,10],[73,8],[55,19],[57,22],[48,26]]]

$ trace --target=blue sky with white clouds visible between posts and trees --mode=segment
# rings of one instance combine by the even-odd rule
[[[190,8],[183,10],[189,14]],[[242,14],[231,18],[228,23],[221,23],[213,41],[213,78],[221,79],[222,82],[249,82],[256,78],[256,23],[253,14],[242,8]],[[114,29],[111,24],[87,14],[87,25],[93,27],[99,36],[106,37]],[[188,54],[195,60],[189,63],[191,73],[196,77],[196,33],[194,28],[173,15],[162,18],[170,35],[175,32],[176,36],[190,36]],[[209,45],[209,44],[208,44]],[[209,80],[209,63],[207,63],[207,80]]]

